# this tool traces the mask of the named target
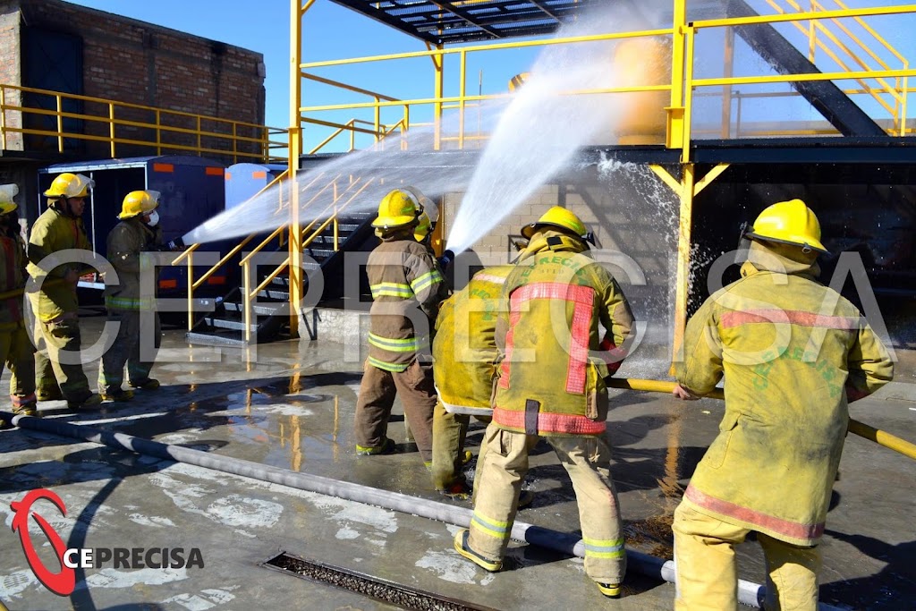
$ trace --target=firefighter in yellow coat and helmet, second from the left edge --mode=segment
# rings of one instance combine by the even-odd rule
[[[90,409],[102,402],[90,390],[82,364],[74,362],[81,344],[76,283],[90,269],[76,262],[51,264],[46,257],[70,249],[92,252],[82,212],[93,185],[82,174],[60,174],[44,192],[48,210],[38,216],[28,236],[28,274],[42,281],[41,289],[28,297],[37,340],[44,340],[48,353],[39,350],[35,355],[38,400],[66,398],[71,409]],[[64,351],[66,357],[61,359]]]

